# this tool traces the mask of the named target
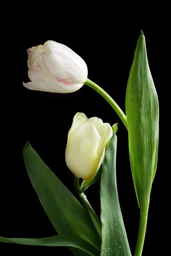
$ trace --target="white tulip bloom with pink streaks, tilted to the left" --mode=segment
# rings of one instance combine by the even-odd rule
[[[47,41],[27,52],[31,82],[23,85],[30,90],[72,93],[87,80],[85,61],[64,44]]]

